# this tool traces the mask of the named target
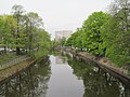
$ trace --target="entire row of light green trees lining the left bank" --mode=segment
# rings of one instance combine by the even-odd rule
[[[24,6],[15,4],[11,14],[0,15],[0,55],[8,52],[35,55],[50,50],[50,42],[38,13],[26,12]]]

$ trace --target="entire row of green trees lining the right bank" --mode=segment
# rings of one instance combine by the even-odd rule
[[[108,13],[92,13],[64,45],[105,56],[117,66],[129,65],[130,0],[114,0]]]

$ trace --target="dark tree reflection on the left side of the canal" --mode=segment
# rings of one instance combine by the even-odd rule
[[[46,97],[51,75],[49,57],[0,85],[0,97]]]

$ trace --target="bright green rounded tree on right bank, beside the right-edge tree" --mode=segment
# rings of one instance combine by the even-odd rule
[[[86,33],[86,41],[88,52],[101,56],[105,54],[103,47],[103,39],[101,37],[101,29],[107,20],[108,14],[103,12],[94,12],[83,23],[82,29]]]

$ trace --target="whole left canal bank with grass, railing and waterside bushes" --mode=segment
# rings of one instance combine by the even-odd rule
[[[4,56],[4,57],[3,57]],[[0,84],[6,80],[20,74],[32,65],[48,56],[48,52],[39,51],[29,55],[2,55],[3,59],[0,63]]]

